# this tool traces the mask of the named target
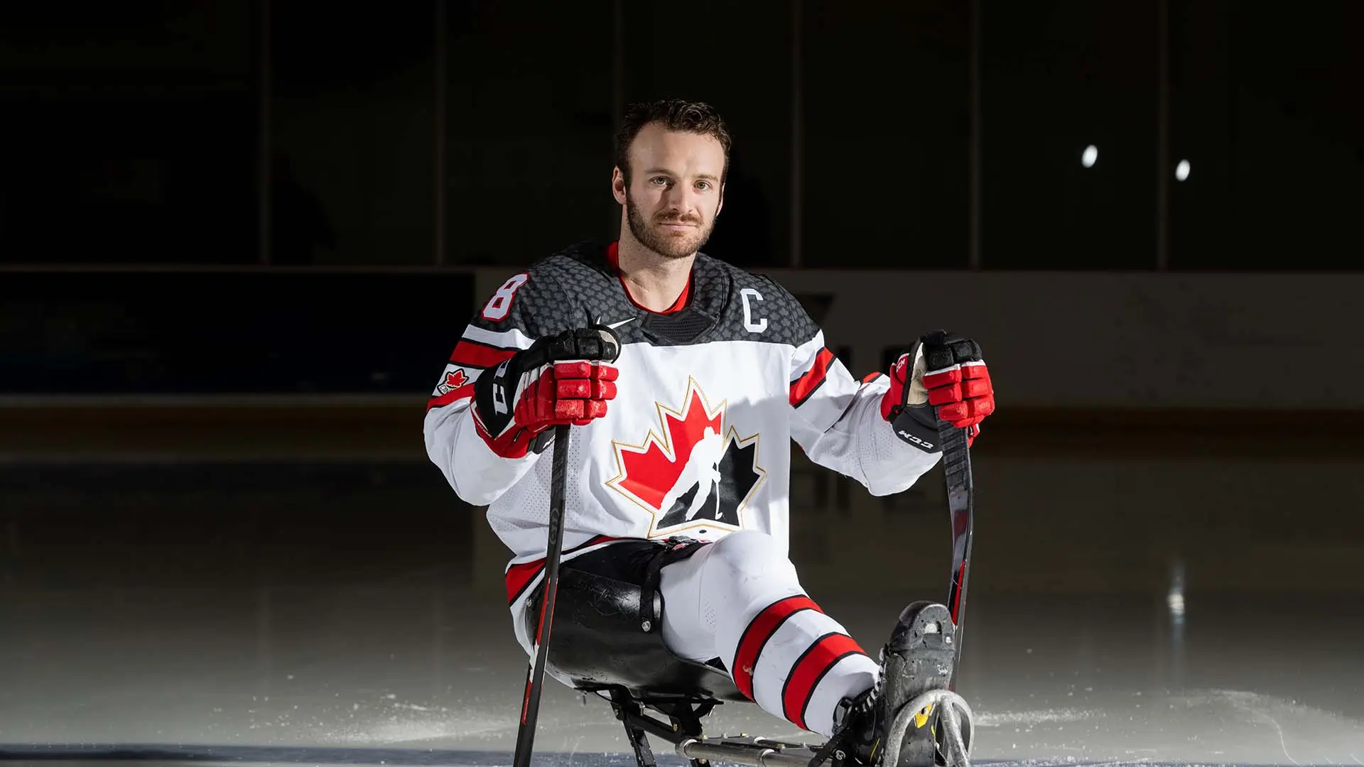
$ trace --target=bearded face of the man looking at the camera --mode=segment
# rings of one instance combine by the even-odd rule
[[[720,142],[652,123],[630,145],[630,169],[629,187],[619,169],[612,186],[634,239],[668,258],[700,250],[723,202]]]

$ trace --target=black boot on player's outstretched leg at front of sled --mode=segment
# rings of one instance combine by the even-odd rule
[[[876,686],[839,706],[833,737],[820,756],[833,767],[964,764],[974,723],[966,701],[948,689],[955,636],[943,605],[906,607],[881,648]]]

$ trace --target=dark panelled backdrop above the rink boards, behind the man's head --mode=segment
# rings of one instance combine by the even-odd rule
[[[1162,210],[1173,270],[1357,244],[1360,4],[979,5],[7,3],[0,261],[520,263],[614,232],[619,111],[674,94],[743,265],[967,267],[973,190],[983,269],[1157,269]]]

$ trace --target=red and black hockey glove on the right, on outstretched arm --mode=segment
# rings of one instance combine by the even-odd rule
[[[936,412],[933,412],[936,409]],[[937,422],[968,429],[975,442],[981,422],[994,412],[994,386],[981,359],[981,347],[943,330],[919,338],[891,366],[891,389],[881,397],[881,415],[906,442],[928,452],[937,445]]]

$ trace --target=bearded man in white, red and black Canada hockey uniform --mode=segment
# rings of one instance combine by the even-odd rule
[[[908,655],[951,618],[915,603],[877,663],[806,596],[787,558],[790,444],[874,495],[900,493],[941,457],[937,416],[974,438],[994,394],[979,348],[941,333],[857,381],[787,291],[698,252],[728,153],[705,104],[632,106],[611,179],[619,240],[570,247],[488,299],[431,397],[427,452],[464,501],[490,506],[514,554],[507,599],[527,652],[543,450],[567,423],[563,566],[637,584],[662,566],[657,631],[674,654],[719,659],[764,710],[876,763],[898,707],[945,686],[951,661],[921,671]],[[617,338],[619,358],[603,362]],[[926,358],[949,364],[925,370]]]

